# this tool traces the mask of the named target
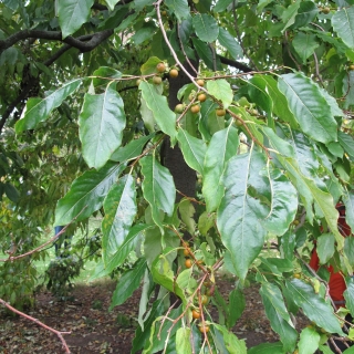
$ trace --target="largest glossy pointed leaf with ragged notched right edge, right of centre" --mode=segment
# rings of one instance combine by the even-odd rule
[[[268,214],[267,208],[248,192],[250,186],[256,190],[263,188],[260,178],[250,174],[259,174],[264,166],[263,155],[252,149],[249,154],[232,157],[225,171],[226,190],[217,211],[217,226],[241,279],[264,242],[266,230],[260,219]]]

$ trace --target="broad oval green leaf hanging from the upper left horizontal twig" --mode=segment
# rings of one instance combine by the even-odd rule
[[[124,103],[112,84],[100,95],[85,94],[79,117],[82,153],[90,167],[100,169],[122,144]]]

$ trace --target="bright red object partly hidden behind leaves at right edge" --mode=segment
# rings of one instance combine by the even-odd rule
[[[340,212],[339,223],[337,223],[339,231],[341,232],[341,235],[343,235],[343,237],[347,237],[352,233],[352,231],[350,226],[345,221],[345,206],[342,204],[337,204],[336,209]],[[320,264],[319,254],[316,252],[316,248],[314,248],[312,251],[311,260],[310,260],[310,267],[315,271],[317,271],[320,266],[321,264]],[[344,304],[343,292],[346,289],[345,281],[341,272],[333,271],[332,266],[327,267],[327,270],[331,273],[330,281],[329,281],[330,295],[333,299],[333,301],[337,303],[340,306],[341,302]]]

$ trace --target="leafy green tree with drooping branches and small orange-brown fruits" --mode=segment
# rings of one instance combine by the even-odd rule
[[[0,11],[1,217],[13,220],[2,243],[15,248],[4,277],[38,227],[101,211],[96,275],[138,254],[112,299],[143,281],[133,353],[246,353],[230,329],[250,280],[280,342],[249,353],[329,353],[345,337],[329,274],[308,261],[316,240],[354,314],[353,238],[335,209],[344,202],[353,229],[354,1],[4,0]],[[221,266],[238,279],[229,299]],[[17,299],[3,283],[0,295]],[[300,336],[299,309],[314,322]]]

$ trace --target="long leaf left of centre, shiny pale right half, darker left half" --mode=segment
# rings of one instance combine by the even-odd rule
[[[125,175],[113,185],[103,202],[103,208],[105,216],[102,220],[102,257],[107,264],[124,243],[137,211],[132,175]]]

